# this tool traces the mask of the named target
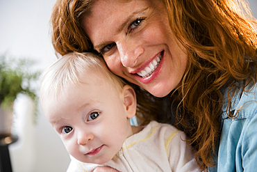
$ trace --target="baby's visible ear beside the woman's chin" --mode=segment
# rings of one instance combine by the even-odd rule
[[[137,99],[135,96],[135,91],[131,86],[124,86],[122,88],[122,93],[124,95],[124,104],[126,106],[127,118],[133,118],[137,109]]]

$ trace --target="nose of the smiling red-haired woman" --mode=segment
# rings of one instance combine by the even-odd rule
[[[124,67],[134,67],[139,56],[144,52],[142,46],[126,40],[116,43]]]

